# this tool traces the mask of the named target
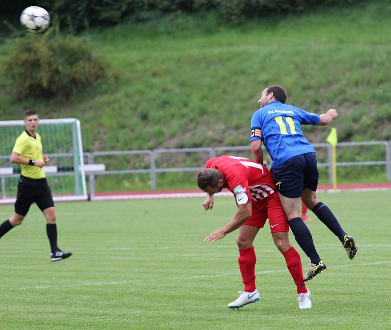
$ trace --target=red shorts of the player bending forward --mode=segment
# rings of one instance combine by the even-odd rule
[[[251,207],[252,214],[244,225],[263,228],[269,218],[272,233],[289,232],[289,224],[285,218],[278,193],[275,192],[260,201],[252,201]]]

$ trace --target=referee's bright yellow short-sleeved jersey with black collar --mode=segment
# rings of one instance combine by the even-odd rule
[[[41,136],[36,133],[36,137],[32,137],[24,131],[18,139],[16,139],[12,152],[17,152],[22,157],[43,162]],[[45,177],[45,171],[38,166],[23,165],[22,175],[31,179],[42,179]]]

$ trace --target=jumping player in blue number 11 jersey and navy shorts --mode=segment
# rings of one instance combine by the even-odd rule
[[[296,241],[311,259],[304,281],[326,270],[312,236],[300,217],[300,199],[305,206],[342,242],[349,259],[357,253],[353,237],[342,229],[331,210],[316,199],[319,172],[314,147],[305,139],[300,125],[327,125],[338,117],[335,109],[316,115],[285,104],[287,95],[281,86],[270,86],[261,93],[261,108],[251,118],[251,151],[254,159],[263,162],[261,141],[269,153],[271,172],[278,189],[282,208]]]

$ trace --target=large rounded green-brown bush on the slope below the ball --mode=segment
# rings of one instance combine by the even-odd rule
[[[33,35],[17,41],[3,62],[4,75],[17,97],[68,97],[107,74],[106,64],[73,36]]]

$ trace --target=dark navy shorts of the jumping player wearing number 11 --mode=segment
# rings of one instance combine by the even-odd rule
[[[271,172],[278,191],[282,196],[298,198],[304,189],[316,191],[319,172],[315,152],[292,157]]]

